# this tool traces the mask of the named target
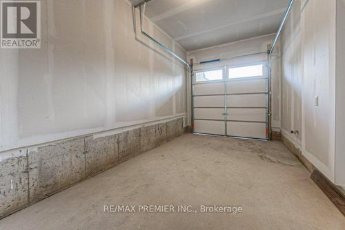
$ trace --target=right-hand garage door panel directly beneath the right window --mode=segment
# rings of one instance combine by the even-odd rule
[[[231,81],[226,83],[228,94],[233,93],[265,93],[267,92],[267,79],[253,79]]]

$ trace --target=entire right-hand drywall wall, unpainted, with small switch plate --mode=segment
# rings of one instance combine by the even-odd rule
[[[335,0],[296,1],[282,70],[282,130],[299,131],[303,155],[335,182]]]

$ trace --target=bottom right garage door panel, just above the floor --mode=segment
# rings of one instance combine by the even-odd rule
[[[266,139],[266,124],[254,122],[228,122],[228,135]]]

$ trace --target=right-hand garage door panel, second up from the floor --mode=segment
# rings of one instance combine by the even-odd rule
[[[228,120],[246,122],[266,122],[265,108],[230,108]]]

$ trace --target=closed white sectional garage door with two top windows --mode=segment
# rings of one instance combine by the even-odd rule
[[[194,132],[268,140],[266,64],[195,72]]]

